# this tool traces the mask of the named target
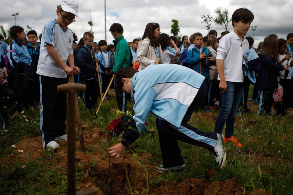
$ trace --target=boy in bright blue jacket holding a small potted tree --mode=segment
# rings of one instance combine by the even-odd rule
[[[210,50],[207,47],[203,47],[202,34],[197,32],[193,34],[193,44],[195,47],[188,51],[186,62],[189,68],[193,69],[195,72],[200,73],[205,77],[205,84],[208,86],[209,83],[209,66],[204,66],[201,62],[207,54],[210,54]],[[209,61],[215,64],[216,58],[214,56],[209,57]],[[208,106],[208,93],[203,101],[203,106]],[[207,109],[206,112],[209,112]]]

